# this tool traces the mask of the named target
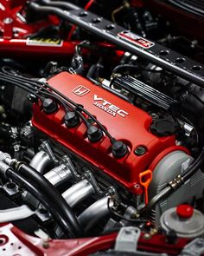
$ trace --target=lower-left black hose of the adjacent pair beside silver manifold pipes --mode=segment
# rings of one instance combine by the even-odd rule
[[[70,237],[70,235],[74,237],[75,234],[72,233],[72,230],[67,224],[67,220],[65,220],[65,218],[61,216],[61,213],[59,213],[59,211],[55,210],[54,205],[52,205],[52,202],[50,202],[48,197],[45,194],[41,193],[41,189],[38,189],[37,187],[32,185],[29,180],[23,178],[21,174],[17,174],[11,168],[7,170],[6,175],[12,181],[15,181],[19,186],[24,187],[26,190],[28,190],[29,193],[34,195],[44,207],[48,208],[48,210],[54,216],[54,219],[56,219],[59,226],[61,226],[61,230],[67,234],[67,237]]]

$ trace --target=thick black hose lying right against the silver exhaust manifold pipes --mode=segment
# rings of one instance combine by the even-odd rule
[[[55,210],[59,211],[61,216],[67,220],[67,224],[69,223],[71,226],[74,236],[83,236],[83,230],[79,221],[59,191],[33,167],[22,164],[18,167],[17,170],[20,174],[22,174],[23,177],[29,179],[30,182],[34,182],[34,184],[36,184],[41,190],[41,194],[44,194],[46,197],[48,197],[50,201],[50,207],[54,207]]]

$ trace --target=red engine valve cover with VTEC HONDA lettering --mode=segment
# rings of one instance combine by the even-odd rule
[[[157,154],[175,146],[175,136],[157,137],[150,132],[152,119],[140,108],[105,89],[89,82],[80,75],[62,72],[48,80],[48,83],[76,103],[80,103],[105,126],[117,140],[124,141],[129,153],[121,159],[112,155],[112,145],[108,137],[99,142],[90,142],[86,137],[86,125],[81,122],[77,128],[67,128],[64,124],[63,108],[47,115],[41,104],[34,105],[33,125],[41,132],[60,142],[75,154],[80,155],[95,167],[112,176],[133,193],[139,193],[138,175],[148,169]],[[137,156],[138,146],[146,148],[146,153]]]

